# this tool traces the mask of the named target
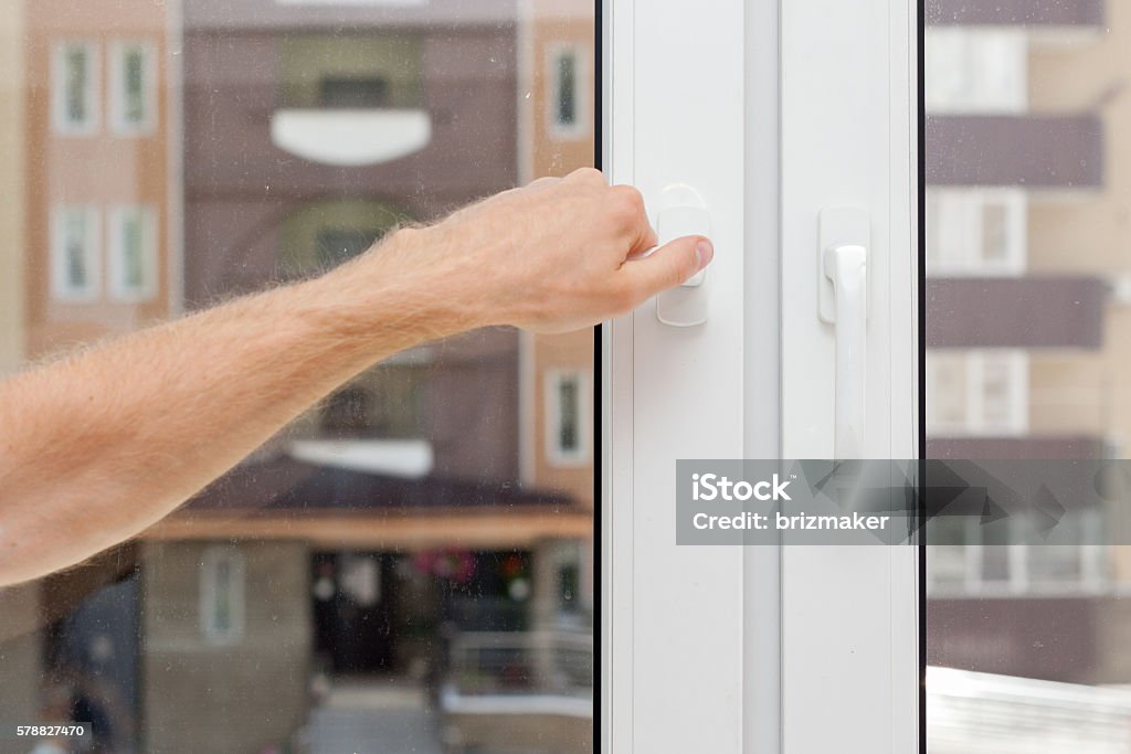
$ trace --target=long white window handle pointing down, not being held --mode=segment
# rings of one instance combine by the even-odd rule
[[[869,216],[860,209],[821,213],[820,317],[836,329],[832,453],[864,457],[867,405]]]

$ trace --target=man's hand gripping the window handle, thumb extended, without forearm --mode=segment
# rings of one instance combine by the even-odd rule
[[[398,267],[461,302],[466,321],[564,332],[624,314],[710,262],[703,236],[656,245],[644,199],[599,171],[544,177],[457,211],[406,244]],[[380,252],[379,252],[380,253]],[[431,274],[425,267],[431,267]]]

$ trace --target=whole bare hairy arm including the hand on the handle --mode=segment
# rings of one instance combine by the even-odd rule
[[[696,236],[644,257],[655,241],[633,189],[542,179],[0,383],[0,586],[140,532],[386,356],[484,326],[587,327],[710,260]]]

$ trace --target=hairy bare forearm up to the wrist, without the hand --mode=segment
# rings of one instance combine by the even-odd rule
[[[421,233],[0,384],[0,583],[136,535],[375,361],[473,324],[398,263]]]

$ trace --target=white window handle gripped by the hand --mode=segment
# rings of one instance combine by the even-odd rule
[[[656,216],[659,245],[687,235],[710,237],[710,213],[699,192],[677,183],[664,189]],[[718,249],[716,248],[716,251]],[[693,327],[707,321],[707,270],[692,275],[682,285],[656,296],[656,317],[671,327]]]

